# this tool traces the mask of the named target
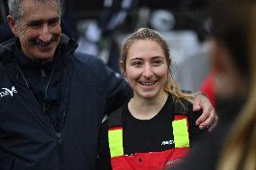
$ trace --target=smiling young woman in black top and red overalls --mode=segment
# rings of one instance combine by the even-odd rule
[[[157,31],[143,28],[123,43],[123,75],[133,98],[105,121],[98,169],[161,169],[187,156],[202,134],[190,99],[170,75],[169,47]]]

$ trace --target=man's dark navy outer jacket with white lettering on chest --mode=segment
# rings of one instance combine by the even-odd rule
[[[31,90],[19,80],[14,42],[0,45],[0,169],[89,170],[96,168],[98,130],[105,113],[132,94],[129,85],[96,57],[76,54],[63,35],[60,132],[43,115]],[[65,54],[65,55],[63,55]]]

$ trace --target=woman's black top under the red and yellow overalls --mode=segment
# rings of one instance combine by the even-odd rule
[[[189,127],[190,144],[194,143],[206,130],[199,130],[195,125],[200,112],[192,112],[192,105],[184,103],[174,103],[173,98],[169,96],[167,102],[160,112],[151,118],[151,120],[138,120],[129,112],[128,104],[123,105],[117,112],[123,115],[123,154],[133,155],[135,153],[159,152],[174,148],[171,121],[174,120],[175,109],[180,112],[182,108],[187,108],[187,121]],[[178,114],[178,113],[177,113]],[[181,115],[184,115],[182,112]],[[111,120],[114,116],[109,117]],[[109,121],[108,120],[108,121]],[[110,152],[108,148],[108,121],[105,121],[100,132],[98,147],[98,170],[112,169],[110,164]],[[120,124],[120,123],[119,123]],[[168,141],[169,144],[164,144]]]

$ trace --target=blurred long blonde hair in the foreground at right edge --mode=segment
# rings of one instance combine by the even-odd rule
[[[250,94],[225,140],[218,170],[256,169],[256,5],[250,5]]]

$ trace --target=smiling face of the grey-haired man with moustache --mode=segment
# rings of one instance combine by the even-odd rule
[[[23,16],[20,22],[10,24],[18,36],[23,53],[34,60],[49,61],[59,44],[61,28],[58,4],[55,0],[38,3],[34,0],[22,1]]]

